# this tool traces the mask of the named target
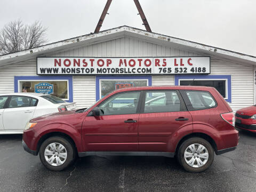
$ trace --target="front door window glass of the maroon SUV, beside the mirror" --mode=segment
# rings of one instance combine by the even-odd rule
[[[117,93],[98,106],[100,115],[135,114],[140,98],[140,92]]]

